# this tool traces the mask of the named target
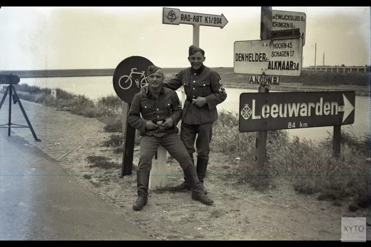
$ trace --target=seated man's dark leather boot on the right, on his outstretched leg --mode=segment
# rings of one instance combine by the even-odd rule
[[[191,166],[185,171],[185,178],[189,187],[192,190],[192,200],[199,201],[206,205],[211,205],[214,203],[205,193],[203,192],[202,185],[198,180],[197,171],[195,166]]]

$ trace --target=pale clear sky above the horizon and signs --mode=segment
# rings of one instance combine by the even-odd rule
[[[260,7],[177,7],[224,14],[223,28],[200,27],[208,67],[233,67],[234,41],[260,40]],[[272,7],[307,17],[303,67],[370,65],[370,7]],[[0,70],[113,69],[129,56],[163,68],[189,66],[192,26],[162,24],[161,7],[0,8]]]

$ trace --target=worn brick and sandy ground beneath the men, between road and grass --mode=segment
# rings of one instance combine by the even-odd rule
[[[4,114],[8,107],[6,102],[1,109],[0,124],[7,123],[7,114]],[[319,201],[318,193],[299,194],[292,187],[290,180],[293,178],[289,176],[277,177],[275,186],[263,192],[257,191],[251,184],[239,180],[241,175],[255,174],[253,171],[228,173],[231,167],[253,167],[254,162],[242,156],[228,156],[216,151],[211,153],[205,181],[209,195],[215,201],[214,206],[190,200],[189,193],[174,193],[164,188],[151,191],[148,205],[144,210],[135,212],[132,205],[136,199],[138,147],[134,153],[133,176],[119,178],[122,153],[114,153],[112,147],[102,146],[102,142],[112,134],[103,131],[104,124],[40,104],[24,100],[22,103],[42,142],[35,142],[27,128],[15,129],[15,134],[56,158],[58,164],[76,176],[82,185],[89,186],[104,202],[136,222],[148,235],[159,239],[338,240],[341,236],[341,230],[338,229],[341,217],[367,214],[364,209],[349,211],[346,200],[335,206],[330,200]],[[13,116],[12,123],[26,124],[19,107],[13,107]],[[232,141],[233,135],[226,131],[224,133],[228,143],[236,143]],[[277,144],[268,146],[268,150],[275,146]],[[350,154],[349,150],[345,152]],[[110,168],[92,166],[88,157],[105,157],[116,165]],[[351,159],[350,156],[346,157]],[[168,159],[167,171],[169,185],[182,181],[177,162]]]

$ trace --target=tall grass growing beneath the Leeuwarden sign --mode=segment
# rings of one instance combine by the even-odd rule
[[[315,143],[289,138],[285,130],[268,131],[267,162],[259,168],[255,161],[255,133],[238,131],[238,115],[221,111],[215,123],[211,148],[231,157],[240,158],[228,173],[237,175],[257,190],[275,186],[273,177],[285,177],[295,190],[318,194],[318,198],[339,202],[351,199],[351,210],[370,204],[370,175],[366,158],[370,157],[370,135],[356,138],[342,130],[341,157],[333,157],[332,136]]]

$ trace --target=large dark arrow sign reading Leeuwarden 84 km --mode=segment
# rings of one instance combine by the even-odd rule
[[[241,93],[239,131],[354,123],[355,91]]]

